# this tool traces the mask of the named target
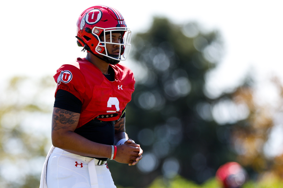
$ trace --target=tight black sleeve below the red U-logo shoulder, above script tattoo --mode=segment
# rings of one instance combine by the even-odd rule
[[[54,107],[81,113],[82,102],[70,92],[59,89],[56,93]]]

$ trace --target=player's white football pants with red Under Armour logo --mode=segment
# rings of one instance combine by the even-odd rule
[[[57,147],[47,162],[48,188],[116,188],[107,164],[98,160],[72,154]]]

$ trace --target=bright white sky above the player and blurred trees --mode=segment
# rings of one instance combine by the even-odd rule
[[[53,75],[62,63],[84,57],[86,53],[76,45],[75,25],[79,14],[97,3],[119,10],[133,34],[147,30],[153,16],[176,24],[197,21],[207,30],[219,30],[225,54],[209,79],[215,91],[234,87],[250,68],[260,82],[270,74],[283,80],[283,3],[279,0],[117,2],[4,1],[0,78]],[[126,61],[129,67],[130,61]]]

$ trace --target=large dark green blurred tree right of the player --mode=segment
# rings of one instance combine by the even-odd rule
[[[124,173],[114,173],[114,179],[137,187],[160,175],[180,174],[204,182],[220,165],[236,159],[230,147],[231,125],[247,115],[232,101],[233,91],[212,97],[205,88],[207,73],[224,53],[220,33],[203,31],[197,23],[175,25],[156,17],[133,43],[136,72],[142,79],[127,105],[126,131],[144,154],[138,171],[124,169],[137,180],[123,178]],[[230,112],[228,117],[219,112],[216,121],[219,109]]]

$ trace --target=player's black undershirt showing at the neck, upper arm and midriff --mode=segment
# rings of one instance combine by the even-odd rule
[[[107,78],[109,81],[114,81],[115,80],[114,70],[110,67],[108,69],[108,72],[109,72],[108,75],[104,74],[105,78]],[[54,107],[68,110],[71,112],[81,113],[82,102],[80,101],[80,99],[78,99],[70,92],[59,89],[56,93]],[[125,117],[125,112],[123,113],[121,118],[124,117]],[[93,120],[87,122],[82,127],[75,129],[74,132],[93,142],[102,143],[106,145],[113,145],[114,134],[115,134],[114,124],[115,121],[100,121],[94,118]],[[96,158],[96,159],[104,160],[104,161],[107,160],[107,158]]]

